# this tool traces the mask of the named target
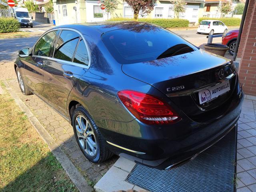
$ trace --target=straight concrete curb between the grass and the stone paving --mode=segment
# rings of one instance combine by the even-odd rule
[[[26,116],[28,116],[28,120],[32,124],[32,126],[36,129],[40,137],[46,142],[50,151],[54,154],[56,159],[60,162],[72,182],[78,188],[80,192],[92,192],[93,188],[90,187],[82,174],[77,170],[74,164],[69,160],[69,158],[64,154],[64,152],[60,149],[60,147],[55,143],[54,139],[50,134],[45,130],[42,124],[38,121],[36,116],[29,110],[29,108],[22,102],[22,100],[13,92],[12,88],[10,88],[8,82],[4,80],[4,84],[6,86],[6,90],[10,93],[10,95],[14,98],[16,104],[20,107],[20,109],[25,112]]]

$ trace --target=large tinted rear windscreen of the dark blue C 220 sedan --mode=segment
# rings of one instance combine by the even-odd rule
[[[176,34],[158,27],[112,30],[102,35],[102,41],[120,64],[146,62],[197,50]]]

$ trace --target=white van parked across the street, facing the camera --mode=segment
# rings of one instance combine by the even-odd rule
[[[20,22],[20,26],[30,26],[33,28],[32,17],[30,16],[28,9],[23,7],[14,7],[14,16]],[[12,10],[10,10],[12,12]]]

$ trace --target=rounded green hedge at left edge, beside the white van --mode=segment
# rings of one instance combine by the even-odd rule
[[[14,18],[0,18],[0,33],[16,32],[20,28],[20,23]]]

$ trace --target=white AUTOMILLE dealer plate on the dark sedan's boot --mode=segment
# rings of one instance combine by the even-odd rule
[[[198,92],[200,104],[208,102],[230,90],[230,82],[225,81],[216,86]]]

